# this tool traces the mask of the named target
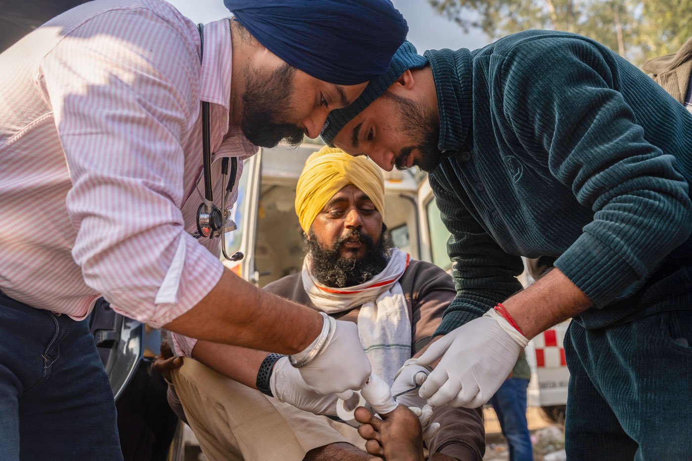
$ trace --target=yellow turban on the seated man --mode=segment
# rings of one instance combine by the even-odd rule
[[[384,213],[385,179],[372,160],[326,145],[308,157],[295,188],[295,213],[305,233],[329,199],[348,184],[365,192]]]

